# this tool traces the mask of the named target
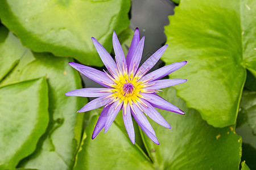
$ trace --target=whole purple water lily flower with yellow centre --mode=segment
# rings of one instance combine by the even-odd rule
[[[180,69],[187,61],[172,63],[171,65],[164,66],[147,74],[155,63],[158,62],[166,50],[167,45],[162,46],[162,48],[152,54],[152,56],[139,67],[139,62],[141,62],[142,58],[144,37],[139,40],[138,28],[135,29],[133,40],[131,41],[126,57],[117,35],[115,32],[113,33],[113,47],[116,62],[114,62],[114,59],[100,42],[94,39],[94,37],[92,37],[92,41],[109,73],[105,70],[102,72],[78,63],[69,62],[69,65],[106,88],[82,88],[65,94],[67,96],[98,97],[87,103],[77,112],[87,112],[105,105],[94,128],[92,139],[94,139],[104,127],[104,133],[106,133],[117,116],[117,113],[122,109],[123,122],[133,144],[135,143],[135,135],[131,114],[133,114],[135,121],[137,121],[144,133],[146,133],[153,142],[159,145],[155,131],[146,116],[150,117],[159,125],[171,129],[170,124],[164,120],[155,108],[184,114],[183,111],[164,100],[157,95],[156,92],[158,92],[160,88],[186,82],[186,79],[159,79]],[[144,114],[146,114],[146,116]]]

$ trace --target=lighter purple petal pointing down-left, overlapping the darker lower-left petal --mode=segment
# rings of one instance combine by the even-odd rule
[[[104,133],[106,133],[110,126],[112,125],[113,121],[115,120],[115,117],[117,117],[117,113],[121,110],[122,108],[122,104],[123,104],[123,101],[121,103],[119,103],[119,100],[118,101],[115,101],[111,107],[109,108],[109,112],[108,112],[108,118],[107,118],[107,121],[106,121],[106,124],[105,124],[105,129],[104,129]],[[117,106],[118,105],[118,106]],[[116,107],[117,106],[117,107]],[[115,108],[116,107],[116,108]]]

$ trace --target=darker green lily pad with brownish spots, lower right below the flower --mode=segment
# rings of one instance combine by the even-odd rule
[[[185,107],[185,101],[176,97],[174,88],[166,88],[159,95],[186,114],[158,109],[172,126],[167,129],[150,121],[159,146],[143,133],[148,155],[156,169],[238,169],[242,138],[236,134],[234,126],[213,128],[208,125],[198,112]]]

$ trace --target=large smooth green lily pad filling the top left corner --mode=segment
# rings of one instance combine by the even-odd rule
[[[90,37],[109,52],[112,34],[129,26],[129,0],[109,1],[1,1],[2,23],[35,52],[76,58],[102,66]]]

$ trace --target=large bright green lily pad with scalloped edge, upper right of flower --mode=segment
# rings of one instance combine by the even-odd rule
[[[167,63],[187,60],[172,78],[187,107],[214,127],[236,123],[246,69],[256,76],[254,0],[184,0],[165,27]]]

